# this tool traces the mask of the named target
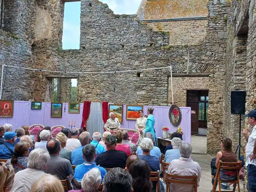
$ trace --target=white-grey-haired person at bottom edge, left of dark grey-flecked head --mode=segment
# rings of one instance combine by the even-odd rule
[[[98,192],[101,185],[101,172],[97,168],[89,170],[82,179],[82,189],[70,190],[68,192]]]

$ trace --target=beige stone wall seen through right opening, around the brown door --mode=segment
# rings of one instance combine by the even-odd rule
[[[169,76],[168,101],[172,103],[171,78]],[[209,77],[173,77],[173,102],[187,106],[187,90],[208,90]]]

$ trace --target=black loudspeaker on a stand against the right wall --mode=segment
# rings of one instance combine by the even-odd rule
[[[231,114],[245,114],[246,91],[231,91]]]

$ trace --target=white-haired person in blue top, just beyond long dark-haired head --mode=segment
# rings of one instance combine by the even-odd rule
[[[143,138],[140,147],[143,153],[139,155],[139,158],[148,163],[151,172],[157,172],[158,170],[160,172],[159,158],[150,155],[150,151],[154,147],[152,140],[150,138]]]

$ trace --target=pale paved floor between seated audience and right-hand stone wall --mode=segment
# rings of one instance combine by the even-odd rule
[[[198,192],[210,192],[212,190],[210,162],[211,162],[211,159],[215,157],[215,155],[206,154],[206,137],[192,136],[191,140],[192,140],[192,147],[193,147],[193,154],[192,154],[193,161],[198,162],[202,168],[202,177],[200,180],[200,187],[198,188]],[[224,189],[222,190],[232,191],[233,187],[230,187],[230,190],[224,190]],[[240,190],[241,192],[244,191],[242,181],[240,181]],[[238,187],[236,188],[236,191],[238,191]]]

